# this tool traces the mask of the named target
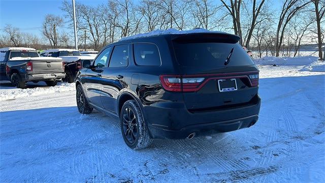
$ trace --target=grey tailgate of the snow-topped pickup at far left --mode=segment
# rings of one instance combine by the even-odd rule
[[[63,73],[63,62],[61,58],[35,57],[30,59],[32,63],[32,74]]]

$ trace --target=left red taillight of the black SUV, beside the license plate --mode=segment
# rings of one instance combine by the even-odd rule
[[[160,76],[161,85],[171,92],[197,92],[204,79],[204,77],[182,77],[180,75]]]

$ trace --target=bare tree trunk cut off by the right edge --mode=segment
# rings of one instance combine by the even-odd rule
[[[311,0],[315,7],[315,15],[316,15],[316,24],[317,24],[317,38],[318,38],[318,56],[319,59],[325,60],[325,56],[322,55],[322,33],[321,33],[321,27],[320,22],[325,14],[325,1],[324,0]]]

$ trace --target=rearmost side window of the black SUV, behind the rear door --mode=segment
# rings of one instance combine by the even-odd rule
[[[133,45],[134,59],[139,66],[160,66],[160,55],[156,45],[150,43],[135,43]]]

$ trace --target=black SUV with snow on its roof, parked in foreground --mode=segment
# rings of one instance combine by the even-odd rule
[[[254,125],[258,69],[225,33],[166,34],[107,45],[77,74],[77,106],[120,118],[125,143],[192,138]]]

